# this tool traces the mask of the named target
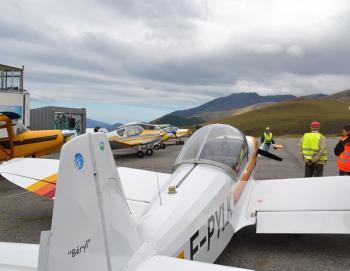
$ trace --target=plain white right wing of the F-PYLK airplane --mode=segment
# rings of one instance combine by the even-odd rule
[[[247,215],[258,233],[350,233],[350,177],[255,181]]]

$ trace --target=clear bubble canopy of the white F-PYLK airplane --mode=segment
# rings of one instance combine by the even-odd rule
[[[236,175],[248,161],[244,134],[229,125],[211,124],[197,130],[179,153],[174,168],[181,164],[211,164]]]

